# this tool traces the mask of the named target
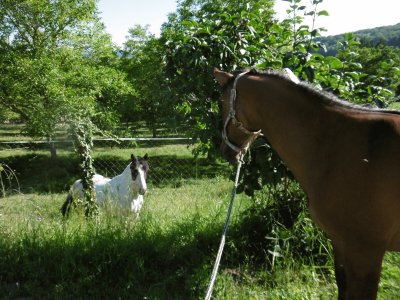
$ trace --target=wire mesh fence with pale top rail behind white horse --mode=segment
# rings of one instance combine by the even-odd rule
[[[95,171],[114,177],[128,165],[131,154],[148,154],[152,187],[177,187],[229,173],[226,164],[195,158],[189,144],[187,138],[96,139]],[[80,177],[79,164],[70,140],[0,142],[1,193],[65,192]]]

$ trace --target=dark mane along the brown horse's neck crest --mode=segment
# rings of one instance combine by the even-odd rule
[[[378,112],[378,113],[388,113],[388,114],[396,114],[400,115],[400,111],[398,110],[391,110],[391,109],[383,109],[383,108],[370,108],[370,107],[364,107],[360,106],[354,103],[350,103],[348,101],[342,100],[332,93],[329,93],[324,90],[320,90],[311,84],[307,82],[301,81],[300,83],[293,82],[290,77],[281,70],[265,70],[265,71],[260,71],[257,69],[247,69],[245,71],[248,71],[248,75],[256,75],[256,76],[273,76],[280,78],[284,80],[287,84],[292,85],[293,87],[296,87],[299,89],[301,92],[306,93],[306,94],[312,94],[316,96],[319,100],[324,102],[327,105],[332,105],[332,106],[339,106],[347,109],[352,109],[352,110],[357,110],[360,112]],[[243,71],[242,71],[243,72]],[[238,73],[241,72],[235,72],[235,77]]]

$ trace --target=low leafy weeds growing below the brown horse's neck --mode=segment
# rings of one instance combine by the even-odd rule
[[[254,205],[243,213],[241,224],[247,235],[232,233],[240,241],[235,245],[239,256],[245,251],[247,259],[271,269],[296,261],[318,266],[332,262],[329,241],[306,212],[306,197],[297,183],[286,179],[279,185],[268,184],[252,199]]]

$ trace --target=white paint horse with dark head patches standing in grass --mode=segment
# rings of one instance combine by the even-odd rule
[[[97,203],[115,202],[121,207],[130,207],[138,214],[143,205],[143,195],[147,191],[147,172],[149,171],[148,156],[136,157],[131,155],[131,162],[125,170],[113,178],[95,174],[92,178]],[[74,199],[83,198],[81,180],[71,186],[67,199],[61,207],[63,216],[67,215]]]

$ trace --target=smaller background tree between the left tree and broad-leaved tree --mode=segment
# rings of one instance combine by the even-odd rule
[[[168,97],[170,90],[165,78],[163,50],[159,39],[149,33],[148,27],[138,25],[129,30],[121,57],[122,69],[136,91],[127,103],[132,114],[126,115],[125,120],[145,121],[153,137],[160,124],[176,127],[179,122],[174,117],[175,105]]]

